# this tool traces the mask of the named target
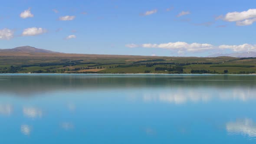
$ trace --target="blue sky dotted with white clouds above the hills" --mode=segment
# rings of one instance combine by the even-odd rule
[[[256,0],[2,0],[0,49],[209,56],[256,52]]]

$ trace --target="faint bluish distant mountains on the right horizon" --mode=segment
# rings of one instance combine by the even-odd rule
[[[236,53],[229,53],[229,54],[223,54],[223,53],[216,53],[207,57],[219,57],[219,56],[230,56],[230,57],[236,57],[236,58],[249,58],[249,57],[256,57],[256,52],[236,52]]]

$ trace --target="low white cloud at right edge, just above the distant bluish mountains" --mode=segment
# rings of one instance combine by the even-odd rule
[[[249,52],[249,51],[256,51],[256,46],[250,44],[243,44],[243,45],[220,45],[220,49],[232,49],[234,52]]]

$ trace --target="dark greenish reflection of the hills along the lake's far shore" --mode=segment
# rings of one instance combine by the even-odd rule
[[[0,75],[0,92],[33,95],[61,90],[129,88],[249,88],[256,76],[244,75]]]

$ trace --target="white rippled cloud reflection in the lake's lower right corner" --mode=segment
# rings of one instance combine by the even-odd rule
[[[245,118],[241,121],[226,123],[226,131],[228,134],[241,134],[248,137],[256,137],[256,123],[251,119]]]

